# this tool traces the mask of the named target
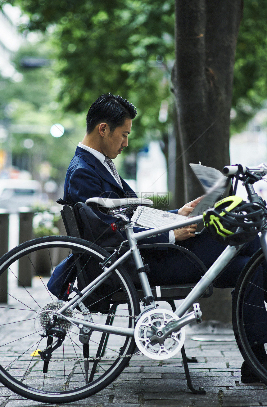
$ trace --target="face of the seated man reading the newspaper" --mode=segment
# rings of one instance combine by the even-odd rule
[[[132,120],[125,119],[122,126],[116,127],[114,131],[110,131],[109,127],[106,134],[102,138],[102,153],[109,158],[116,158],[118,154],[128,146],[128,134],[132,129]]]

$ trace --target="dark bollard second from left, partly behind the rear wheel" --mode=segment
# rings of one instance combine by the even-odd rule
[[[33,238],[33,212],[29,208],[20,208],[19,213],[20,220],[20,232],[19,232],[19,244],[24,243]],[[31,287],[31,278],[33,270],[29,265],[27,258],[21,258],[19,260],[18,267],[18,285],[23,287]]]

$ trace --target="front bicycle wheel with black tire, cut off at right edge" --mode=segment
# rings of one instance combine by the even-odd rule
[[[267,350],[267,291],[263,283],[267,273],[260,267],[264,261],[263,250],[259,249],[241,272],[234,289],[232,322],[236,343],[245,362],[260,381],[267,384],[267,370],[251,348],[264,344]]]

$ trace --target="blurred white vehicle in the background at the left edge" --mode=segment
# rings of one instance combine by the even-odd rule
[[[33,179],[0,179],[0,208],[18,212],[46,200],[39,181]]]

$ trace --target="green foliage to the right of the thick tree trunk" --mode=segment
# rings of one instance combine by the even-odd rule
[[[263,106],[267,94],[267,4],[245,0],[236,46],[232,131],[240,131]]]

